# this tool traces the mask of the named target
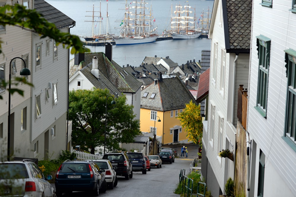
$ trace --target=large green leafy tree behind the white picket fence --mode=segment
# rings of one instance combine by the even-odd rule
[[[104,146],[107,89],[73,90],[69,92],[69,120],[72,120],[72,145],[84,150]],[[106,149],[120,150],[119,143],[131,143],[140,134],[139,120],[135,120],[133,106],[126,104],[126,96],[107,98]]]

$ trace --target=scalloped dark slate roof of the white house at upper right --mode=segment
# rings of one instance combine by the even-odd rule
[[[222,0],[222,6],[226,52],[250,52],[252,0]]]

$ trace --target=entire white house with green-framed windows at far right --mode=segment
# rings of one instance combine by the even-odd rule
[[[295,0],[253,0],[248,196],[296,196]]]

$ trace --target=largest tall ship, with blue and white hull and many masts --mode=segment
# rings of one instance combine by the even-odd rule
[[[120,34],[113,36],[116,45],[135,45],[155,42],[159,37],[154,27],[152,4],[147,6],[145,0],[125,3],[124,18],[120,21]],[[115,27],[116,28],[116,27]]]

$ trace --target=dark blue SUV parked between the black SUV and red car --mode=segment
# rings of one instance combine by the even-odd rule
[[[143,153],[128,152],[128,158],[131,160],[133,171],[142,171],[142,174],[147,174],[147,164]]]

